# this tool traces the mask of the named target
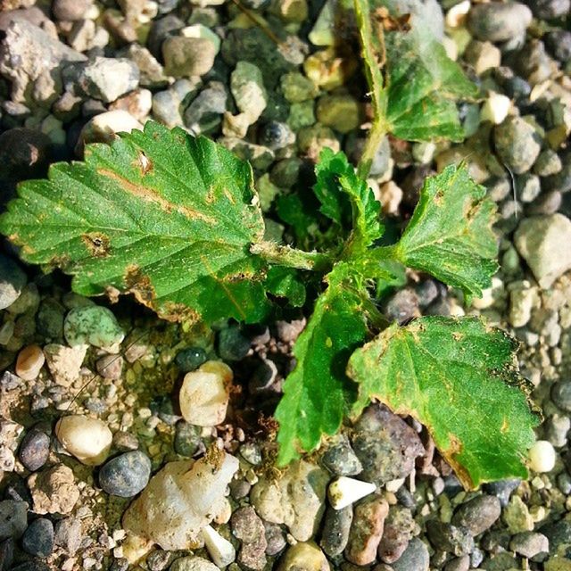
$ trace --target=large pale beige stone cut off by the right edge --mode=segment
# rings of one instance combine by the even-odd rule
[[[542,289],[549,289],[571,269],[571,250],[561,247],[567,243],[571,243],[571,220],[559,213],[523,219],[515,234],[517,252]]]

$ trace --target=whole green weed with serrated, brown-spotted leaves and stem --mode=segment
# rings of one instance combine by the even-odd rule
[[[363,0],[356,12],[370,76],[381,52],[369,50]],[[405,65],[412,52],[395,63],[400,42],[412,41],[404,32],[382,41],[385,78],[371,79],[371,138],[388,131],[460,138],[447,95],[473,91],[461,71],[448,60],[429,70],[432,62],[412,55]],[[410,66],[422,81],[399,91]],[[370,140],[358,172],[343,153],[320,156],[313,189],[319,215],[345,236],[325,251],[264,240],[249,164],[206,138],[153,122],[111,146],[87,145],[85,161],[55,164],[47,180],[23,183],[0,231],[21,245],[24,260],[72,275],[79,294],[134,294],[165,319],[261,322],[270,298],[302,306],[305,283],[322,277],[324,291],[295,344],[297,365],[276,411],[278,463],[314,450],[345,415],[375,398],[424,423],[467,487],[526,476],[538,418],[517,373],[516,343],[476,318],[390,325],[372,295],[393,279],[395,263],[480,295],[497,269],[493,203],[465,166],[450,166],[426,179],[397,244],[378,245],[380,204],[363,179],[374,154]]]

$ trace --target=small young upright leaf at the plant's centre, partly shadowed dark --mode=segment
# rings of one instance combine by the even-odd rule
[[[353,251],[363,251],[383,236],[381,204],[344,153],[323,149],[315,173],[313,192],[321,203],[320,211],[343,228],[352,228]]]

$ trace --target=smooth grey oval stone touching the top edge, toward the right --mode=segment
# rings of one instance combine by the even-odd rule
[[[517,2],[475,4],[468,13],[468,29],[480,40],[506,42],[523,37],[532,12]]]

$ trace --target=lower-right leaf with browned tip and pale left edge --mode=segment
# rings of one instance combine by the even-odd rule
[[[467,488],[525,478],[539,418],[517,372],[516,348],[477,318],[395,324],[349,361],[348,374],[360,384],[356,409],[375,398],[417,418]]]

